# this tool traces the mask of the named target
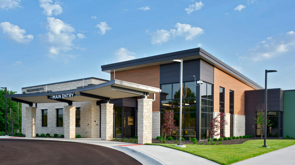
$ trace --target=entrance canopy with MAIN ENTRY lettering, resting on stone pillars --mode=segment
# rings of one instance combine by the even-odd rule
[[[11,98],[12,101],[29,104],[30,106],[32,106],[33,103],[58,102],[66,102],[72,105],[73,102],[78,101],[109,101],[110,99],[125,97],[148,96],[149,94],[158,92],[161,92],[161,89],[114,79],[102,84],[65,91],[34,94],[6,94],[5,97]]]

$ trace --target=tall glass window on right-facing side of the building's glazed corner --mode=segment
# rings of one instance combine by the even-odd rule
[[[213,113],[212,85],[201,84],[201,139],[209,138],[210,122]]]

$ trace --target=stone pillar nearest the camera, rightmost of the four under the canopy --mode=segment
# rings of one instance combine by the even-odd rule
[[[152,143],[152,99],[138,99],[137,135],[138,144]]]

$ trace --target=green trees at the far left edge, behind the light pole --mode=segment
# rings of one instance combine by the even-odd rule
[[[10,94],[15,94],[16,91],[10,91]],[[0,131],[5,131],[5,89],[0,89]],[[9,94],[9,91],[7,91]],[[12,114],[12,120],[10,120],[10,108]],[[17,130],[17,102],[11,101],[7,98],[7,132],[12,132],[10,129],[10,121],[14,120],[13,130]],[[22,124],[22,104],[19,103],[19,130],[21,130]]]

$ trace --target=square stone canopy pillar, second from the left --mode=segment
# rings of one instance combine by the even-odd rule
[[[76,106],[63,107],[63,129],[65,138],[76,138]]]

